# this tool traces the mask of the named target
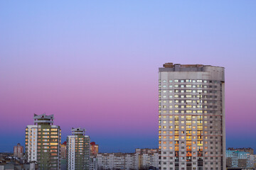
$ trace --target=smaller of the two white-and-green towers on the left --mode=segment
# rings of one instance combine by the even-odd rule
[[[68,169],[90,169],[90,137],[85,129],[72,128],[72,135],[67,137]]]

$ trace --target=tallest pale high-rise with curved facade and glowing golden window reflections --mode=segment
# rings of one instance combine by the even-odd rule
[[[225,169],[223,67],[159,68],[159,169]]]

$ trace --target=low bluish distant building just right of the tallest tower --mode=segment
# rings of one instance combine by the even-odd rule
[[[240,152],[235,150],[226,150],[227,167],[249,168],[251,167],[249,152]]]

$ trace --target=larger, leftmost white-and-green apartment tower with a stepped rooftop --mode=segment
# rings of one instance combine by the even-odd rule
[[[34,125],[26,127],[26,158],[38,169],[60,169],[60,126],[53,125],[53,115],[34,114]]]

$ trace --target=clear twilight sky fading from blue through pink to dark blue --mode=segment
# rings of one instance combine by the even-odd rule
[[[0,152],[33,113],[62,142],[158,147],[158,69],[225,67],[226,146],[256,149],[256,1],[0,1]],[[254,77],[254,78],[253,78]]]

